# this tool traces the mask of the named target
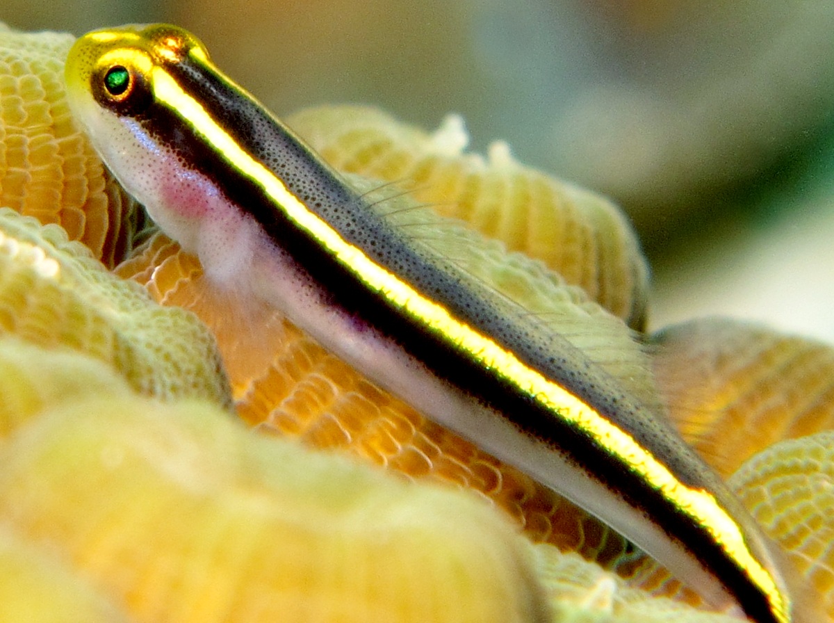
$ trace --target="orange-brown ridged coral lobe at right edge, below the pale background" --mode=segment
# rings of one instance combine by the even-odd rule
[[[652,338],[670,415],[729,476],[777,441],[834,428],[834,350],[738,320],[698,319]]]

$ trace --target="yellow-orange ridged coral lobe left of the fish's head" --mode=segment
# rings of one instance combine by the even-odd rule
[[[136,203],[105,171],[64,98],[73,37],[0,23],[0,206],[58,223],[112,267],[141,224]]]

